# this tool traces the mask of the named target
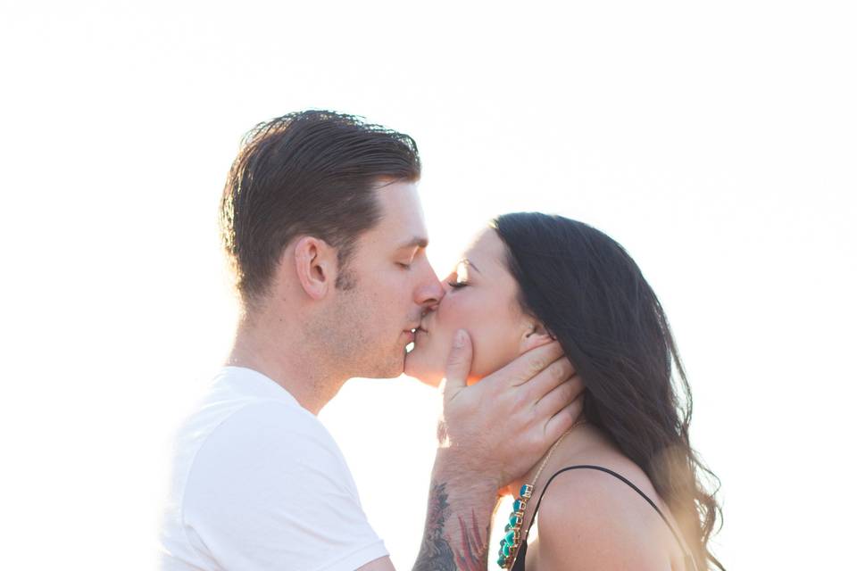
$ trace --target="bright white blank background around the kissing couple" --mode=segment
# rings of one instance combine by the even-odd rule
[[[0,3],[0,568],[154,567],[169,435],[235,314],[220,188],[245,130],[308,107],[416,138],[438,272],[503,211],[625,244],[722,479],[717,553],[842,567],[857,531],[847,4]],[[403,569],[434,407],[411,379],[354,380],[321,415]]]

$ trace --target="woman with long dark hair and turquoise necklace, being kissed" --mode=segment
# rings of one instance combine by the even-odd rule
[[[471,382],[555,338],[587,387],[584,418],[512,484],[531,487],[520,491],[497,563],[723,569],[708,549],[720,508],[700,482],[716,478],[690,447],[685,373],[628,253],[581,222],[516,213],[495,219],[465,256],[423,319],[405,372],[439,381],[462,328],[473,342]]]

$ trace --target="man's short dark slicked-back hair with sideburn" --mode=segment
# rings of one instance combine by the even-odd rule
[[[347,289],[354,241],[381,216],[375,189],[420,178],[413,139],[362,118],[294,112],[247,133],[220,201],[220,236],[242,301],[258,301],[296,236],[337,248],[337,287]]]

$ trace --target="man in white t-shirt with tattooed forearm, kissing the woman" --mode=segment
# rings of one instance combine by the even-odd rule
[[[400,375],[444,295],[419,178],[411,137],[333,112],[289,114],[245,140],[221,203],[242,316],[228,367],[179,430],[164,569],[393,569],[316,415],[349,377]],[[416,569],[485,568],[498,488],[579,410],[556,343],[467,387],[461,333]]]

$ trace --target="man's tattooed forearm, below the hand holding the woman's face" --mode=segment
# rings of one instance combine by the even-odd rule
[[[463,472],[448,450],[437,451],[414,571],[484,571],[496,501],[493,482]]]

